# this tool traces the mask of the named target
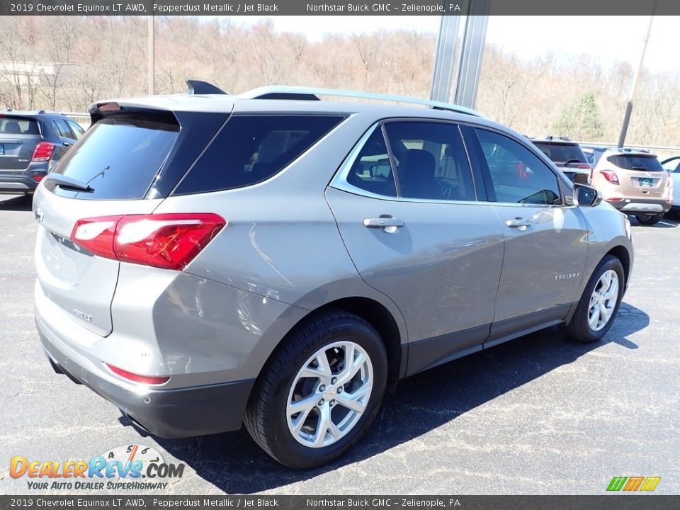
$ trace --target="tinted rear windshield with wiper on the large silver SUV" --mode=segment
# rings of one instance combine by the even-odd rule
[[[112,115],[92,126],[67,152],[55,173],[88,184],[94,191],[55,193],[91,200],[144,198],[179,135],[169,116],[130,118]]]

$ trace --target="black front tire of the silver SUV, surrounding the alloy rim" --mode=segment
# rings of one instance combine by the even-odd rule
[[[611,317],[609,318],[609,322],[607,322],[607,324],[599,331],[593,331],[593,329],[590,327],[590,324],[588,323],[590,298],[593,295],[595,287],[601,276],[610,269],[615,271],[616,275],[618,276],[618,297],[616,300],[616,307],[614,307]],[[606,335],[607,331],[609,331],[609,328],[611,327],[611,324],[613,324],[614,319],[616,318],[616,314],[618,314],[618,307],[621,306],[621,298],[623,297],[624,288],[625,276],[621,261],[613,255],[605,256],[604,259],[602,259],[602,261],[597,265],[595,271],[593,271],[593,274],[591,275],[590,280],[588,280],[588,284],[583,291],[583,295],[579,300],[576,312],[574,312],[572,319],[565,327],[567,335],[569,335],[574,340],[583,342],[584,344],[596,342]]]

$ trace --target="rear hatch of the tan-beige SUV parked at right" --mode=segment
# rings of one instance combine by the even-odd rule
[[[621,192],[624,195],[664,198],[669,176],[654,154],[613,154],[607,157],[607,162],[616,167],[614,171],[621,182]]]

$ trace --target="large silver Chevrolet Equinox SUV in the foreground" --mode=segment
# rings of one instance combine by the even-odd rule
[[[94,104],[33,201],[47,357],[137,426],[244,422],[314,467],[401,378],[611,327],[630,224],[525,137],[446,103],[201,89]]]

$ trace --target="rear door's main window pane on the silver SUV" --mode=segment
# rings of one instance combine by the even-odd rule
[[[475,200],[467,153],[455,124],[403,121],[385,124],[397,165],[399,196]]]

